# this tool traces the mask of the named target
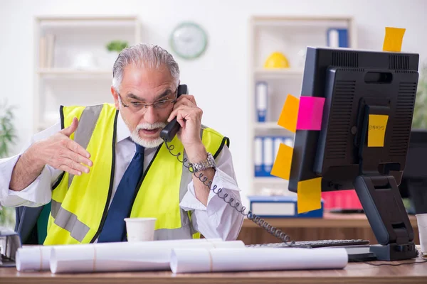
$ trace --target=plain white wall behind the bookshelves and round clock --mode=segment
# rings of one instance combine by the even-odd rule
[[[19,1],[0,0],[0,99],[19,104],[19,151],[31,135],[33,16],[54,14],[135,14],[143,40],[169,49],[169,35],[180,21],[196,21],[209,34],[209,48],[192,62],[179,60],[181,82],[204,109],[204,124],[231,138],[239,185],[248,187],[248,19],[253,15],[350,15],[357,22],[359,48],[381,50],[384,27],[406,28],[402,51],[427,59],[427,1],[423,0],[248,0],[248,1]],[[226,67],[227,66],[227,67]],[[105,90],[109,96],[109,90]],[[237,111],[241,116],[237,116]]]

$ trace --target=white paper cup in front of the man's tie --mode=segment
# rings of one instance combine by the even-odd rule
[[[125,218],[127,241],[153,241],[156,218]]]

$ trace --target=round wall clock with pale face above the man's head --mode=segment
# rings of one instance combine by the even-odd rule
[[[181,23],[172,32],[172,50],[181,58],[198,58],[204,50],[208,38],[204,30],[196,23]]]

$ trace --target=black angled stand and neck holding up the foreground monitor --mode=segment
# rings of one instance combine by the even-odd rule
[[[372,105],[364,109],[358,141],[359,176],[354,180],[354,189],[378,241],[370,251],[380,261],[398,261],[417,255],[413,229],[394,176],[379,173],[383,149],[367,146],[369,114],[388,114],[388,111]]]

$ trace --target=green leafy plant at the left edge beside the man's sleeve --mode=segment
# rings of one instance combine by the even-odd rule
[[[16,141],[16,130],[14,127],[14,107],[9,106],[6,101],[0,104],[0,158],[9,155],[11,145]],[[14,229],[14,208],[1,208],[0,227]]]

